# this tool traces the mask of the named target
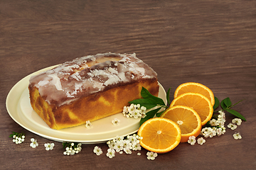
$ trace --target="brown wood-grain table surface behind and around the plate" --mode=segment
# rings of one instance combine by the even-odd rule
[[[82,145],[63,155],[61,142],[34,134],[11,119],[6,96],[28,74],[100,52],[132,53],[149,64],[171,100],[187,81],[205,84],[247,121],[204,145],[181,143],[146,159],[146,150],[108,158]],[[256,2],[255,1],[0,1],[0,169],[255,169]],[[12,131],[25,132],[16,145]],[[241,140],[234,140],[240,132]],[[38,140],[36,149],[30,139]],[[54,142],[46,151],[44,143]]]

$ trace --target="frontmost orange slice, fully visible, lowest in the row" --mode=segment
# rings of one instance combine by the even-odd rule
[[[174,121],[167,118],[146,120],[137,134],[143,137],[140,145],[151,152],[164,154],[171,151],[181,141],[181,129]]]

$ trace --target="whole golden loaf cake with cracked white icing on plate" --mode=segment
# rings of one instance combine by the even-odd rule
[[[151,67],[135,54],[105,53],[76,58],[29,80],[31,106],[56,130],[122,112],[141,98],[142,86],[158,96]]]

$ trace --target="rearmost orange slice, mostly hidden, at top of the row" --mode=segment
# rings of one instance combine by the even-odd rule
[[[174,98],[188,92],[203,94],[203,96],[206,96],[210,100],[210,103],[212,105],[214,105],[215,103],[213,91],[211,91],[207,86],[203,84],[194,83],[194,82],[188,82],[188,83],[179,85],[176,91],[174,92]]]

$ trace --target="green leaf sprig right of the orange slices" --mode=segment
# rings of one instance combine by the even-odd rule
[[[231,114],[235,115],[236,117],[246,121],[245,117],[242,116],[240,113],[238,113],[238,111],[230,109],[233,106],[240,103],[241,101],[238,101],[238,103],[232,104],[232,102],[230,101],[230,98],[225,98],[225,99],[223,99],[223,101],[219,101],[218,98],[216,98],[216,97],[214,97],[214,99],[215,99],[215,104],[213,106],[213,110],[218,108],[218,106],[221,106],[221,108],[223,108],[223,111],[227,111],[228,113],[231,113]],[[215,112],[217,112],[217,111],[215,111]]]

